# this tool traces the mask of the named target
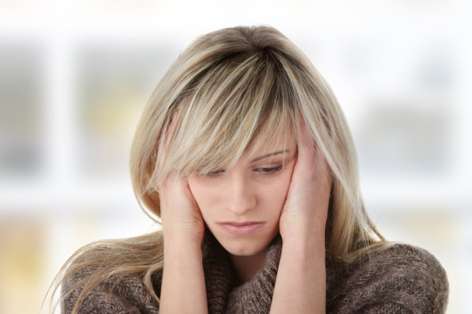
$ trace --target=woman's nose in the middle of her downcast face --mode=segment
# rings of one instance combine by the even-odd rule
[[[256,190],[244,175],[233,175],[228,187],[228,208],[238,215],[256,207]]]

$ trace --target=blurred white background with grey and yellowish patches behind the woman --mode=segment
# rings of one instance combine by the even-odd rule
[[[466,0],[0,0],[0,314],[39,312],[78,247],[155,229],[128,151],[196,36],[279,28],[338,95],[368,212],[443,263],[472,313],[472,12]],[[46,312],[45,310],[43,310]]]

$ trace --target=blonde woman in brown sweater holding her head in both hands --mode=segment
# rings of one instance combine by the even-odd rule
[[[135,195],[162,230],[79,250],[64,313],[442,313],[435,258],[364,212],[330,87],[273,28],[199,37],[134,136]]]

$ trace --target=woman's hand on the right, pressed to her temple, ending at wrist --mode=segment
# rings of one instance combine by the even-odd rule
[[[330,204],[332,176],[319,149],[302,125],[297,161],[280,219],[285,241],[323,238]],[[302,238],[303,239],[303,238]]]

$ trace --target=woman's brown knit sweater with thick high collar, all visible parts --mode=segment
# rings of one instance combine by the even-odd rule
[[[264,268],[242,286],[234,286],[227,253],[216,240],[202,245],[209,313],[268,313],[281,257],[281,238],[275,238]],[[85,268],[67,278],[62,293],[93,268]],[[332,262],[327,257],[327,313],[444,313],[448,281],[444,269],[425,250],[407,245],[388,246],[366,254],[350,264]],[[153,280],[159,295],[161,273]],[[159,313],[159,304],[138,275],[119,282],[110,278],[85,297],[78,313]],[[69,314],[82,288],[62,302],[62,313]],[[64,294],[66,295],[66,294]]]

